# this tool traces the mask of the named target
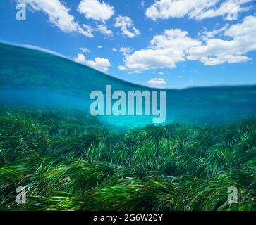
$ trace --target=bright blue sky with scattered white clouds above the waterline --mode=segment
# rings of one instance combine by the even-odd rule
[[[1,0],[0,28],[135,84],[256,84],[255,0]]]

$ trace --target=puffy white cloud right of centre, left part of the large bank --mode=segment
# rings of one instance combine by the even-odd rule
[[[150,49],[135,51],[126,56],[124,63],[130,72],[142,72],[157,68],[175,68],[176,63],[185,61],[185,51],[201,42],[188,37],[188,32],[173,29],[165,30],[150,41]]]

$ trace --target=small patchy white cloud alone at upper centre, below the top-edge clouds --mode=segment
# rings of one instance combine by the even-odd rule
[[[114,26],[120,27],[122,34],[130,38],[140,34],[140,31],[134,27],[133,20],[128,16],[118,15]]]

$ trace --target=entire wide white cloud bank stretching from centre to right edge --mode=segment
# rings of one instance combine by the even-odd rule
[[[219,30],[212,31],[207,39],[189,37],[188,32],[172,29],[156,35],[147,49],[125,56],[123,69],[142,72],[158,68],[175,68],[185,60],[198,60],[204,65],[242,63],[250,60],[245,56],[256,50],[256,17],[248,16],[242,23],[225,26],[221,33],[226,39],[215,37]]]

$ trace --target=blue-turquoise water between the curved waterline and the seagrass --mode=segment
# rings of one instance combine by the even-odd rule
[[[214,79],[214,78],[213,78]],[[0,106],[74,108],[89,113],[91,91],[152,91],[44,51],[0,44]],[[256,86],[166,90],[166,122],[226,124],[256,115]],[[152,123],[147,116],[102,116],[116,126]]]

